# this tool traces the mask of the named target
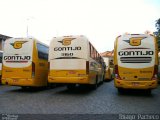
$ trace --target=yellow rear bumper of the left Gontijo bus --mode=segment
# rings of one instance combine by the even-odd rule
[[[28,78],[2,78],[2,84],[11,86],[36,86],[34,79]]]

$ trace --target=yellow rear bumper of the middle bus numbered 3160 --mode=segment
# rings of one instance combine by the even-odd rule
[[[85,77],[52,77],[48,76],[49,83],[76,83],[76,84],[90,84],[87,76]]]

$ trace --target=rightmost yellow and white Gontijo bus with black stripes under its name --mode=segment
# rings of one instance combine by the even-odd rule
[[[149,34],[125,34],[117,37],[114,47],[115,87],[145,89],[157,87],[158,46]]]

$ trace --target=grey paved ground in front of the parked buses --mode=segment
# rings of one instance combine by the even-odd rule
[[[97,90],[65,86],[53,89],[22,90],[0,86],[1,114],[160,114],[160,86],[145,95],[143,91],[119,94],[113,81]]]

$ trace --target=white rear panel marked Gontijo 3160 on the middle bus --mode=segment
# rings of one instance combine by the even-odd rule
[[[88,40],[72,36],[70,45],[63,45],[64,37],[54,38],[50,43],[50,70],[84,70],[88,60]],[[83,40],[82,40],[83,39]]]

